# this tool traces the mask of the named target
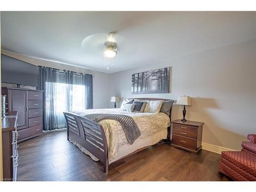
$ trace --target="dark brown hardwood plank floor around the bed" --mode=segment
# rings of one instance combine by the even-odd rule
[[[114,162],[109,174],[66,139],[66,131],[47,133],[19,143],[20,181],[229,181],[218,173],[221,156],[197,155],[156,144]]]

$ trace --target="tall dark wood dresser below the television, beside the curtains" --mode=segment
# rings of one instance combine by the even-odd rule
[[[18,142],[42,134],[42,91],[2,87],[8,111],[17,111]]]

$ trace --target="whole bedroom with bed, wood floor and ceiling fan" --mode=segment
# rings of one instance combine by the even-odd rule
[[[1,11],[1,178],[255,181],[255,25],[254,11]]]

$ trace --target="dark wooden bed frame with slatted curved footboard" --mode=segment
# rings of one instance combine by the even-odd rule
[[[170,100],[170,99],[159,99],[159,98],[131,98],[141,100]],[[90,119],[84,118],[83,116],[64,112],[63,113],[67,121],[67,139],[73,140],[86,148],[91,154],[99,159],[104,164],[104,173],[108,174],[109,171],[109,156],[108,156],[108,144],[106,142],[105,132],[102,125],[94,122]],[[170,110],[170,120],[172,115],[172,109]],[[166,142],[170,142],[170,126],[168,127]],[[135,152],[126,155],[130,156],[139,151],[144,150],[146,147],[139,148]],[[123,157],[123,158],[125,158]]]

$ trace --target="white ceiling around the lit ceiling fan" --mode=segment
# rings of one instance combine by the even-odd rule
[[[1,48],[114,73],[254,39],[255,15],[255,12],[1,12]],[[109,32],[120,38],[116,39],[115,65],[106,70],[103,50],[93,50],[93,41],[87,47],[82,46],[82,40],[90,35],[97,39],[99,33]]]

